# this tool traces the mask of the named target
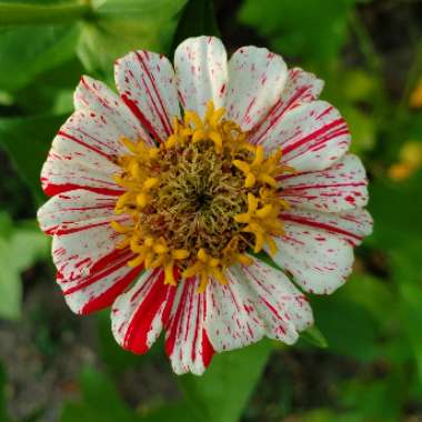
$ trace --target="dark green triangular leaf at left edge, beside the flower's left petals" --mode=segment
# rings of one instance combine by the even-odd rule
[[[40,172],[64,117],[0,118],[0,144],[37,198],[43,198]]]

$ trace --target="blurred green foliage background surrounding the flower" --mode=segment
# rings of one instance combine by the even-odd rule
[[[147,366],[159,366],[167,371],[169,383],[174,384],[175,378],[161,342],[145,356],[130,355],[114,343],[108,313],[100,313],[93,329],[99,363],[81,371],[76,396],[63,405],[61,421],[422,420],[422,171],[418,165],[409,170],[401,159],[409,142],[422,144],[422,108],[409,107],[422,77],[422,26],[415,18],[406,24],[408,39],[400,30],[394,33],[393,41],[405,49],[408,60],[394,69],[394,58],[379,47],[388,43],[383,38],[391,37],[394,22],[379,22],[376,16],[381,10],[392,19],[405,8],[419,8],[422,16],[416,2],[405,3],[0,0],[0,165],[8,171],[0,180],[2,319],[21,315],[21,275],[36,262],[48,260],[48,240],[27,219],[34,219],[34,204],[43,201],[39,172],[53,134],[72,110],[73,88],[82,73],[112,86],[112,63],[129,50],[168,54],[182,39],[200,33],[221,34],[231,51],[240,44],[267,44],[290,66],[325,80],[323,99],[346,118],[352,150],[362,157],[371,178],[374,234],[358,251],[348,284],[330,298],[311,298],[316,326],[303,333],[298,345],[289,349],[263,341],[223,353],[202,378],[178,378],[179,396],[134,405],[122,394],[121,380],[128,372],[143,374]],[[403,16],[411,19],[412,13]],[[7,170],[10,163],[12,170]],[[394,177],[394,164],[405,170],[405,177]],[[10,185],[17,195],[31,192],[32,199],[12,207]],[[53,274],[48,272],[48,278],[51,282]],[[50,329],[36,326],[38,333]],[[302,365],[308,359],[303,356],[316,362],[309,374],[293,376],[284,369],[294,353],[302,356]],[[319,368],[320,359],[330,365]],[[344,375],[343,370],[350,372]],[[283,376],[273,378],[277,371]],[[312,376],[330,385],[325,400],[319,399],[318,383],[312,384],[310,396],[299,391]],[[7,382],[1,373],[0,421],[9,420]],[[36,412],[33,420],[46,420],[42,413],[43,409]]]

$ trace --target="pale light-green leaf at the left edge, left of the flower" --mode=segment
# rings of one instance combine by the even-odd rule
[[[4,218],[2,220],[4,222]],[[0,237],[1,318],[20,316],[22,300],[20,273],[37,260],[46,258],[48,245],[48,238],[34,224],[9,229],[8,235]]]

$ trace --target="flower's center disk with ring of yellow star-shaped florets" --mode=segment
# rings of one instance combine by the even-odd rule
[[[294,170],[280,163],[281,150],[265,158],[224,113],[212,101],[203,120],[187,111],[159,147],[121,139],[128,153],[115,159],[114,180],[125,192],[114,212],[130,218],[111,222],[124,235],[118,248],[135,254],[131,267],[163,268],[167,284],[199,277],[203,291],[210,278],[224,284],[230,265],[250,264],[249,249],[277,252],[289,207],[277,177]]]

